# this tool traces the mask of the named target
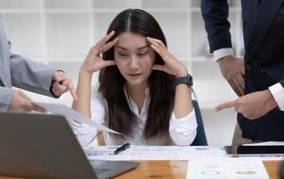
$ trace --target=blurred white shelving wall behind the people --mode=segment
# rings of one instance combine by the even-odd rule
[[[85,55],[115,15],[126,8],[148,11],[159,21],[169,51],[194,76],[209,145],[229,145],[236,113],[233,109],[215,113],[214,107],[237,96],[209,53],[200,4],[201,0],[0,0],[0,12],[14,53],[64,70],[76,85]],[[229,5],[233,47],[242,56],[240,2],[229,0]],[[96,84],[96,77],[93,79]],[[26,93],[35,101],[72,104],[70,94],[51,99]]]

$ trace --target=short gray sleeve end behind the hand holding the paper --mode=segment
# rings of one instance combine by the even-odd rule
[[[0,86],[0,111],[7,111],[13,95],[13,89]]]

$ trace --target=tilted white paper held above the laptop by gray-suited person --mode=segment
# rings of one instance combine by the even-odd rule
[[[54,113],[56,115],[64,115],[67,120],[73,120],[81,124],[89,124],[102,131],[121,134],[119,132],[115,132],[111,129],[108,129],[108,127],[102,124],[98,124],[94,121],[91,121],[90,118],[88,118],[85,115],[81,115],[77,111],[73,110],[73,108],[71,107],[67,107],[65,105],[59,105],[59,104],[52,104],[52,103],[36,103],[36,104],[39,105],[39,107],[43,107],[47,109],[47,111]]]

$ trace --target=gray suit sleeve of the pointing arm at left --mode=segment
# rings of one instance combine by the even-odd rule
[[[56,72],[54,68],[11,53],[10,69],[13,86],[55,97],[50,92],[52,75]]]

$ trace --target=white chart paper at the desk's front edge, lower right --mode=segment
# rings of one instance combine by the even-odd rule
[[[269,179],[260,158],[193,158],[186,179]]]

